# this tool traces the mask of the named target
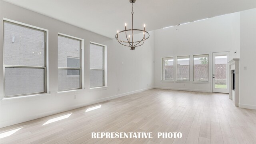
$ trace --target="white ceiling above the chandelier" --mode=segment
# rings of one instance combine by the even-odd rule
[[[5,0],[51,18],[114,38],[124,23],[131,28],[129,0]],[[136,0],[134,28],[156,30],[256,8],[256,0]]]

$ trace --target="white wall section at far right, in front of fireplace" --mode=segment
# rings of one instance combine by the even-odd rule
[[[256,109],[256,9],[240,12],[240,104]],[[247,70],[244,70],[247,67]]]

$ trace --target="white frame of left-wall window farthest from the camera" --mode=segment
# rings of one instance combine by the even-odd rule
[[[107,86],[107,84],[106,84],[106,48],[107,48],[107,46],[103,45],[103,44],[96,43],[96,42],[90,42],[90,44],[94,44],[94,45],[98,45],[98,46],[102,46],[103,47],[103,52],[102,52],[102,60],[103,60],[103,62],[102,62],[102,69],[90,68],[90,66],[89,66],[90,71],[91,70],[102,70],[103,71],[103,85],[102,86],[91,86],[91,84],[90,84],[90,89],[106,87]],[[89,50],[90,50],[90,48],[89,48]],[[89,65],[90,65],[90,52],[89,52]],[[90,81],[90,79],[89,79],[89,81]]]

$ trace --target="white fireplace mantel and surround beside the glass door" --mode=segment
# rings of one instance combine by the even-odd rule
[[[229,98],[233,100],[234,95],[234,104],[239,106],[239,58],[233,58],[228,62],[229,64]],[[235,90],[233,90],[233,74],[232,70],[235,71]]]

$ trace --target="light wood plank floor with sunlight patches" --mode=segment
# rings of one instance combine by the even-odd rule
[[[64,119],[46,124],[56,118]],[[152,89],[0,131],[18,128],[0,143],[256,144],[256,110],[235,107],[227,94]],[[182,132],[182,138],[100,139],[91,138],[91,132]]]

